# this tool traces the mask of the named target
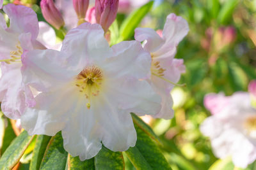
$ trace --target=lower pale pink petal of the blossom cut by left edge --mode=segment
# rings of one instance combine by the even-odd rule
[[[0,78],[1,109],[8,118],[17,119],[26,108],[25,96],[22,91],[20,64],[16,68],[3,71]]]

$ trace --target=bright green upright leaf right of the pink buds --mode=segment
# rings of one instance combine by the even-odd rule
[[[131,38],[134,35],[134,29],[138,27],[141,20],[147,15],[147,13],[151,10],[154,1],[150,1],[149,3],[141,6],[138,10],[133,11],[129,17],[127,17],[123,24],[120,27],[120,40],[124,41]]]

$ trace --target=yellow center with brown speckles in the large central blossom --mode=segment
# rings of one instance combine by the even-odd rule
[[[92,97],[99,95],[102,78],[102,70],[97,66],[85,67],[83,71],[76,76],[76,86],[79,88],[79,92],[83,93],[89,101],[86,104],[88,109],[90,109]]]

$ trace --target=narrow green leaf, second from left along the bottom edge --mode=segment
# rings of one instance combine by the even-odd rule
[[[45,149],[51,139],[51,136],[38,135],[36,137],[35,148],[33,150],[33,157],[30,162],[29,170],[37,170],[40,167],[41,161],[44,157]]]

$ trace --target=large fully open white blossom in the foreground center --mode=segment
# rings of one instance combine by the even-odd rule
[[[161,97],[143,80],[150,76],[150,60],[138,41],[110,48],[99,24],[79,25],[68,32],[61,52],[34,50],[24,58],[24,82],[41,93],[22,115],[22,127],[49,136],[62,131],[65,150],[81,160],[97,155],[102,143],[127,150],[136,143],[129,113],[161,108]]]

